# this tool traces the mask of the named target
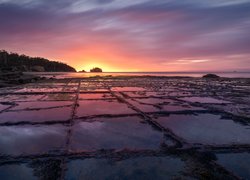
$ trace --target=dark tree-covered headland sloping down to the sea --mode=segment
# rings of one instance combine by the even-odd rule
[[[0,50],[0,70],[1,69],[38,72],[76,72],[73,67],[61,62],[9,53],[5,50]]]

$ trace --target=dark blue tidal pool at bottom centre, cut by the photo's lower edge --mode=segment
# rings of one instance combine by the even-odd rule
[[[177,179],[184,163],[174,157],[137,157],[122,161],[107,159],[72,160],[66,179]]]

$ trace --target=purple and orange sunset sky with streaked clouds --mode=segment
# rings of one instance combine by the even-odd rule
[[[78,71],[250,71],[250,0],[0,0],[0,49]]]

